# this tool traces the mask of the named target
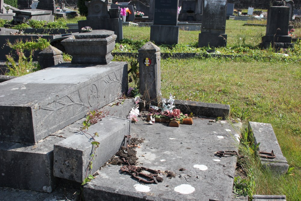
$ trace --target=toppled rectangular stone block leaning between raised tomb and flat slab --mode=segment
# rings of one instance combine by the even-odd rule
[[[88,168],[94,148],[92,137],[84,132],[78,132],[54,145],[54,171],[56,177],[82,182],[88,174],[93,174],[107,162],[121,146],[125,144],[125,135],[130,131],[130,120],[116,117],[105,117],[102,121],[89,127],[87,133],[93,135],[99,142],[92,169]],[[88,172],[88,174],[86,173]]]

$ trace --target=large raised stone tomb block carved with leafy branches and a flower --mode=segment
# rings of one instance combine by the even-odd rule
[[[126,62],[63,63],[0,83],[0,140],[35,143],[127,91]]]

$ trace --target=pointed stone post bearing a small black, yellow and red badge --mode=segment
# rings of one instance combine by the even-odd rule
[[[146,105],[158,105],[161,90],[160,48],[147,42],[138,49],[139,89]]]

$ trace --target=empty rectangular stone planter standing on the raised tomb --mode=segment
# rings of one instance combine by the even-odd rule
[[[117,36],[109,30],[92,30],[77,33],[62,40],[67,54],[72,56],[72,64],[108,64],[112,61],[112,50]]]

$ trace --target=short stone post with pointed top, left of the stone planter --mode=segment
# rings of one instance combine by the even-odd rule
[[[63,52],[50,45],[39,53],[38,61],[41,69],[63,63]]]

